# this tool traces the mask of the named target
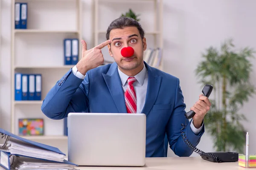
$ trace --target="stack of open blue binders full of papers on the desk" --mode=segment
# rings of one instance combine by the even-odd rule
[[[4,144],[0,144],[0,166],[6,170],[76,170],[76,164],[64,159],[58,148],[33,142],[0,128]]]

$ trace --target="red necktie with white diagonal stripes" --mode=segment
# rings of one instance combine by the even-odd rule
[[[125,91],[125,105],[127,113],[136,113],[137,111],[137,97],[134,90],[133,83],[136,81],[135,77],[128,78],[128,87]]]

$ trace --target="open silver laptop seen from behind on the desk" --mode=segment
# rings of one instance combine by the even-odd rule
[[[69,113],[68,160],[79,166],[144,166],[142,113]]]

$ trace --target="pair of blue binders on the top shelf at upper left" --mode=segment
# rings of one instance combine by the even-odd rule
[[[15,3],[15,29],[27,28],[27,3]]]

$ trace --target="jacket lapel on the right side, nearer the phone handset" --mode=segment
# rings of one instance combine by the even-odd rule
[[[145,105],[141,113],[145,113],[145,115],[148,116],[148,113],[151,111],[151,108],[157,99],[161,84],[161,77],[155,74],[154,70],[147,63],[145,63],[145,65],[148,69],[148,88]]]

